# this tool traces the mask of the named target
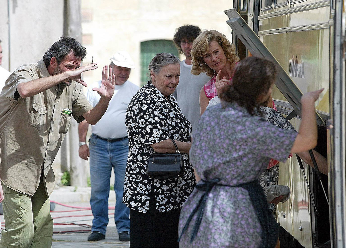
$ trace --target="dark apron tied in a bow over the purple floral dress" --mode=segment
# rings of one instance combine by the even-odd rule
[[[196,188],[197,190],[204,191],[204,193],[202,194],[201,199],[199,200],[197,206],[192,210],[192,213],[190,214],[188,220],[186,221],[186,224],[181,232],[181,235],[179,236],[178,242],[180,241],[184,232],[188,229],[193,216],[195,215],[195,213],[198,212],[196,222],[192,230],[190,242],[192,242],[194,238],[197,236],[198,229],[199,229],[199,226],[201,225],[201,221],[202,221],[202,217],[204,213],[204,208],[206,206],[206,202],[208,199],[208,194],[211,191],[211,189],[216,185],[216,186],[222,186],[222,187],[242,187],[243,189],[246,189],[248,191],[252,206],[255,209],[256,215],[262,227],[260,247],[275,247],[277,238],[279,237],[279,226],[277,225],[274,217],[268,210],[267,200],[265,198],[263,188],[261,187],[260,183],[258,183],[258,180],[242,183],[238,185],[219,184],[218,182],[220,181],[220,179],[212,179],[209,181],[202,180],[202,181],[203,183],[197,184]]]

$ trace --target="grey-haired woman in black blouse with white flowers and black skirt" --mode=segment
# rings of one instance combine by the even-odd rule
[[[126,112],[129,156],[123,202],[130,208],[130,247],[178,247],[180,209],[195,186],[188,155],[192,127],[172,96],[179,83],[180,60],[173,54],[156,54],[149,71],[151,80]],[[183,176],[151,179],[145,171],[149,155],[176,151],[169,138],[183,155]]]

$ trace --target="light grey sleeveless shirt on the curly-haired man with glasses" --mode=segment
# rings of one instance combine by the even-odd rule
[[[193,75],[192,65],[187,65],[185,60],[180,62],[180,79],[173,96],[175,97],[181,113],[189,120],[192,125],[197,125],[200,116],[199,92],[208,83],[210,77],[205,73]]]

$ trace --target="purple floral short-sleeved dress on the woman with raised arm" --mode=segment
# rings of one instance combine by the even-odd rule
[[[212,106],[202,115],[190,150],[190,161],[203,180],[238,185],[258,180],[270,158],[285,161],[297,133],[282,130],[263,117],[251,116],[234,103]],[[180,213],[181,235],[203,191],[195,189]],[[246,206],[246,207],[244,207]],[[180,247],[259,247],[261,225],[247,190],[215,185],[206,201],[197,235],[190,242],[197,215],[180,240]]]

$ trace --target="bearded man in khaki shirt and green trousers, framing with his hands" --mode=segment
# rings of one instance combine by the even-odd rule
[[[0,202],[5,229],[1,247],[51,247],[53,220],[49,195],[55,185],[52,162],[69,128],[71,117],[95,125],[114,93],[115,76],[103,67],[101,99],[92,108],[82,93],[80,67],[86,49],[64,36],[43,59],[17,68],[0,94]]]

